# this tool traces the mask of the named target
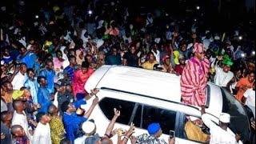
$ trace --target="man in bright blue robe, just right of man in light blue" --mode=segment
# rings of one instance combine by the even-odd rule
[[[54,97],[51,96],[50,92],[46,89],[46,77],[39,76],[38,83],[40,85],[38,88],[38,103],[41,105],[41,108],[39,108],[38,111],[42,111],[48,114],[48,106],[50,106],[51,100],[53,100]]]

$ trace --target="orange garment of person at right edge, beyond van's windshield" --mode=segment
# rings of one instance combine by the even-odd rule
[[[239,87],[238,94],[235,98],[238,99],[239,102],[242,100],[242,95],[246,92],[247,89],[253,87],[253,82],[250,83],[248,80],[248,77],[246,78],[240,78],[236,87]]]

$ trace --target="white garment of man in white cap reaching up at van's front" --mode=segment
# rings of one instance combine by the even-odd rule
[[[238,143],[234,134],[217,126],[206,114],[202,114],[202,122],[210,129],[210,144]]]

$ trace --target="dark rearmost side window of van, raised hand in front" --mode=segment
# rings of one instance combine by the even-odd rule
[[[114,108],[121,110],[121,115],[117,122],[128,125],[130,116],[134,110],[134,102],[123,101],[115,98],[103,98],[98,105],[106,118],[111,120],[114,116]]]

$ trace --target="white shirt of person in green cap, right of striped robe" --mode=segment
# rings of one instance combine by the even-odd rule
[[[214,77],[214,83],[218,86],[224,86],[226,87],[227,83],[230,82],[230,80],[234,77],[234,74],[229,72],[224,72],[223,69],[219,66],[215,67],[216,74]]]

